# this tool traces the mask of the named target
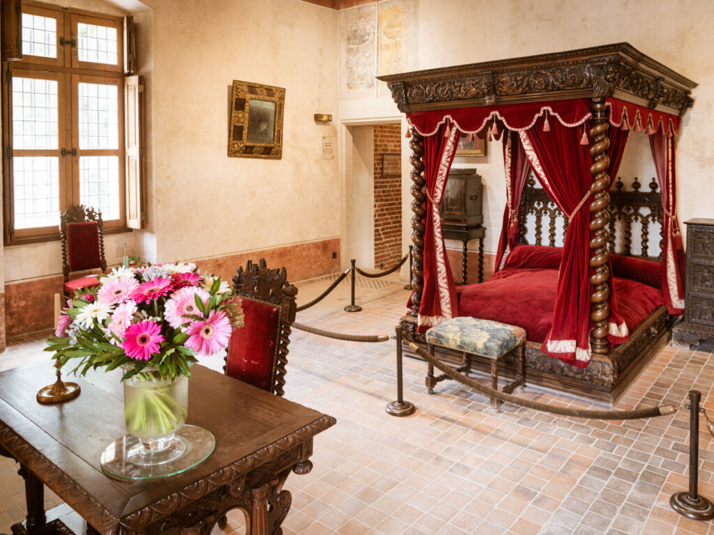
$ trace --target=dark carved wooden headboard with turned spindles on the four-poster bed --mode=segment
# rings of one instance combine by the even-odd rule
[[[621,178],[610,191],[610,253],[620,253],[627,256],[645,258],[646,260],[662,260],[663,248],[663,210],[662,198],[658,191],[657,180],[650,181],[650,191],[640,191],[642,184],[635,177],[631,190],[625,190]],[[531,215],[529,221],[528,215]],[[533,223],[533,218],[535,222]],[[558,225],[558,220],[562,221]],[[535,188],[535,178],[531,175],[526,181],[521,196],[521,230],[518,243],[531,245],[550,245],[554,247],[565,240],[565,230],[568,228],[568,218],[565,218],[548,193],[542,188]],[[633,224],[638,228],[639,237],[633,241]],[[543,227],[548,226],[548,235],[543,236]],[[560,232],[558,233],[558,227]],[[650,255],[650,228],[658,227],[659,240],[656,254]],[[528,232],[529,229],[533,233]],[[655,230],[656,232],[656,230]],[[528,236],[534,236],[529,242]],[[640,254],[633,252],[639,249]],[[637,247],[638,246],[638,247]]]

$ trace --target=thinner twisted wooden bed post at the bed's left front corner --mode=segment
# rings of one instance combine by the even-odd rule
[[[411,211],[414,213],[411,218],[411,240],[414,245],[412,251],[413,264],[411,267],[411,287],[413,293],[411,295],[412,315],[416,316],[421,304],[421,292],[424,289],[424,217],[426,215],[426,195],[424,194],[424,138],[416,131],[416,128],[411,129]]]

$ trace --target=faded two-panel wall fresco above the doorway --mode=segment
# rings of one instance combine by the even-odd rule
[[[419,0],[383,0],[340,11],[340,98],[388,97],[381,74],[418,63]]]

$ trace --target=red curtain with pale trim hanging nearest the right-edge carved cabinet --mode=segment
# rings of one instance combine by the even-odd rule
[[[684,314],[684,247],[677,220],[677,173],[675,143],[672,136],[654,133],[650,148],[664,208],[664,247],[662,251],[662,292],[670,314]]]

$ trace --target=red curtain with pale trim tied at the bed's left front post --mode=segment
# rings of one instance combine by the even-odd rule
[[[418,332],[426,332],[429,327],[458,316],[456,286],[441,233],[439,203],[460,136],[461,133],[447,120],[439,127],[436,135],[424,138],[424,287],[419,306]]]

